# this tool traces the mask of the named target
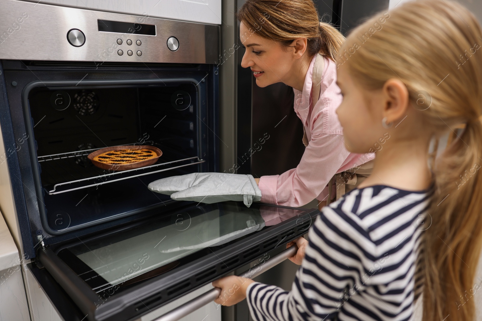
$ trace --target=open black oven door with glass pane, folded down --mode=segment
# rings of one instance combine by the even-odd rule
[[[28,266],[66,320],[86,315],[91,321],[134,320],[284,248],[307,233],[318,213],[264,204],[190,203],[102,234],[48,245]],[[82,314],[80,319],[74,312]]]

